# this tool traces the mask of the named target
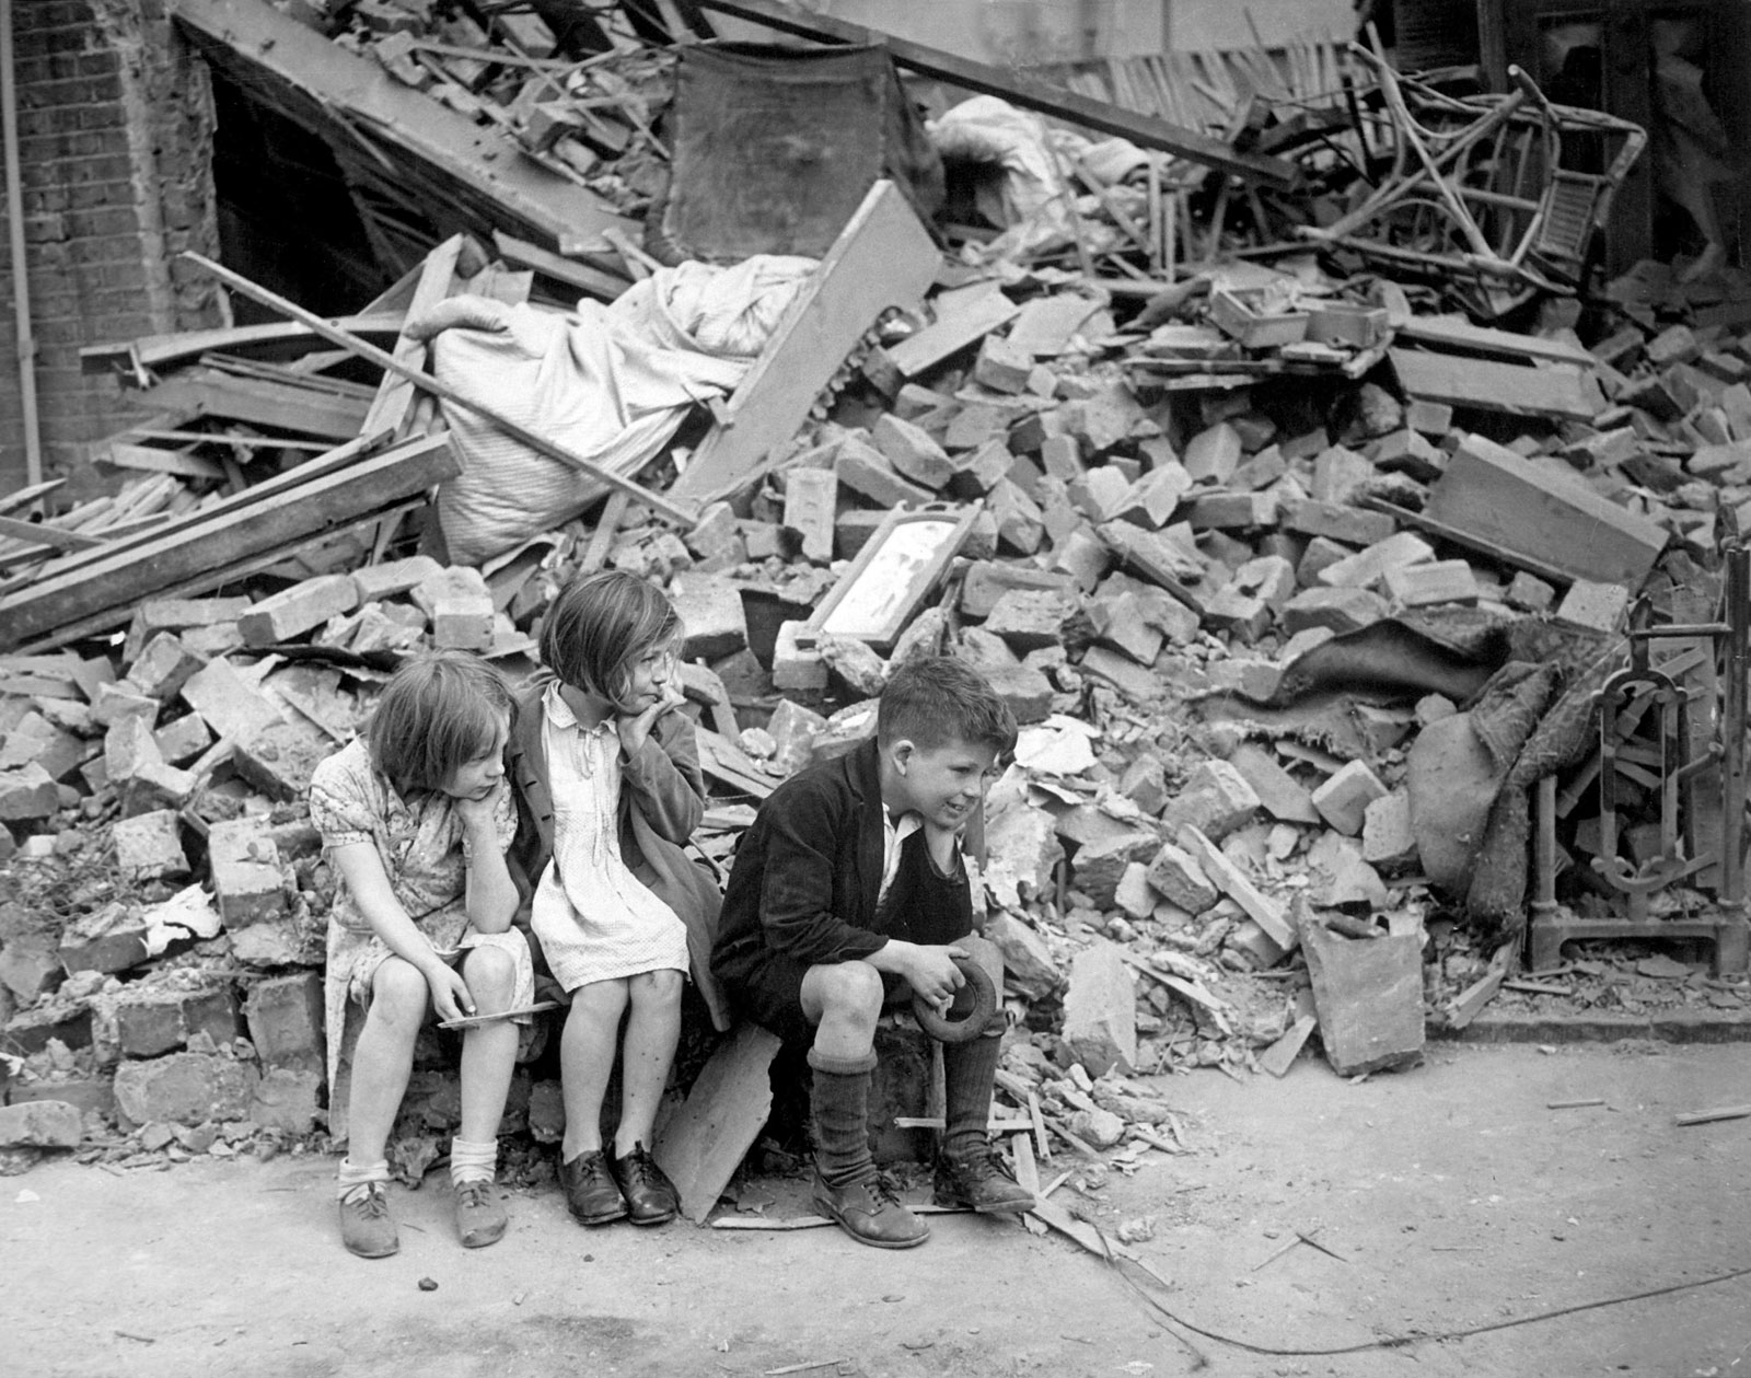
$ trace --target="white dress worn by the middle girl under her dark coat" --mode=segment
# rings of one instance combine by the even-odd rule
[[[686,926],[620,858],[620,734],[585,728],[559,685],[541,697],[553,783],[553,860],[529,926],[567,991],[641,972],[686,970]]]

